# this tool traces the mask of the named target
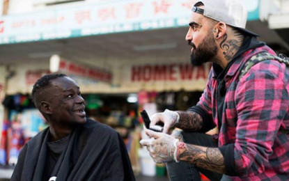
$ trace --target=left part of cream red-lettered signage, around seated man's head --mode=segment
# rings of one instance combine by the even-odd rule
[[[15,74],[8,81],[8,95],[31,93],[36,81],[43,75],[50,73],[47,61],[26,63],[25,66],[15,65],[11,69]],[[104,68],[85,67],[69,61],[61,61],[59,72],[74,79],[83,93],[109,93],[111,91],[112,73]],[[84,72],[87,72],[87,74],[84,74]]]

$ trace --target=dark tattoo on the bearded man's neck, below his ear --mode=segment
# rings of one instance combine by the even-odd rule
[[[240,49],[240,43],[242,44],[242,36],[235,36],[234,38],[235,39],[227,40],[228,35],[224,34],[224,40],[220,44],[227,61],[231,61],[233,59],[233,56]]]

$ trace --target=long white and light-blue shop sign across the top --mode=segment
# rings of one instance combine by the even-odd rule
[[[247,1],[246,1],[247,2]],[[258,19],[259,0],[246,3]],[[188,26],[192,0],[125,0],[78,3],[0,17],[0,45]]]

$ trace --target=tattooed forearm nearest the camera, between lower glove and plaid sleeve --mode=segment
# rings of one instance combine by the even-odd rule
[[[204,168],[215,173],[224,173],[224,157],[218,148],[205,148],[198,145],[185,143],[179,144],[178,158],[190,162],[199,168]]]

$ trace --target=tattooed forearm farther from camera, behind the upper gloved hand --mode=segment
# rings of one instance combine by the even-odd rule
[[[203,127],[203,119],[198,113],[188,111],[178,111],[178,113],[180,120],[175,127],[192,131],[198,131]]]

